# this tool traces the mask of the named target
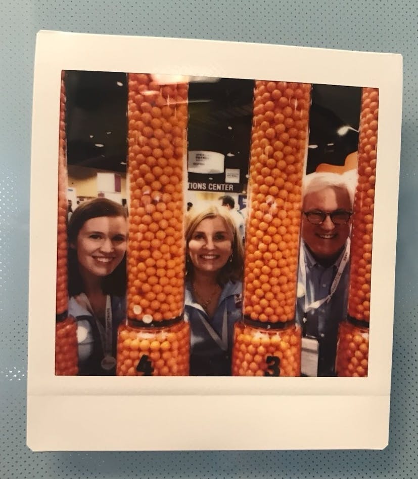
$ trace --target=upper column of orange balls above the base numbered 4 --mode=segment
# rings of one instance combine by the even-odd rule
[[[188,84],[128,80],[128,317],[151,323],[183,310]]]

